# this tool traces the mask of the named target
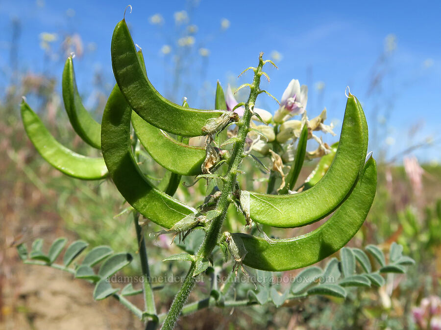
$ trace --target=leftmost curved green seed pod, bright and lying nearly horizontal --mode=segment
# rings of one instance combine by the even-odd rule
[[[87,157],[66,148],[50,134],[37,114],[22,101],[21,113],[27,136],[38,153],[58,171],[84,180],[97,180],[107,176],[102,157]]]

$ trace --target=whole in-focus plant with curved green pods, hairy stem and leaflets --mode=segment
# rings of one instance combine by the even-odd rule
[[[284,149],[288,149],[284,143],[290,139],[295,141],[298,123],[283,118],[272,120],[270,114],[269,117],[254,107],[261,93],[270,95],[260,89],[260,80],[262,76],[269,79],[263,68],[266,64],[274,63],[264,61],[262,53],[258,65],[248,68],[254,72],[252,83],[238,88],[250,89],[247,101],[237,104],[230,111],[227,110],[220,84],[216,92],[216,110],[189,108],[186,100],[179,106],[164,98],[148,80],[142,52],[136,50],[124,19],[115,27],[111,58],[117,84],[107,100],[101,125],[91,118],[81,104],[72,58],[67,60],[63,74],[63,98],[71,124],[85,142],[101,149],[102,157],[91,158],[73,153],[55,140],[25,101],[21,110],[30,140],[49,164],[81,179],[98,180],[110,176],[122,197],[130,204],[144,277],[143,290],[129,285],[118,293],[119,289],[112,286],[109,277],[129,264],[132,256],[128,253],[113,254],[107,246],[90,250],[82,263],[75,264],[76,258],[88,246],[87,242],[75,241],[66,249],[63,264],[55,264],[66,240],[56,240],[46,254],[42,250],[43,241],[38,239],[33,242],[29,254],[24,245],[18,247],[25,263],[48,265],[88,280],[95,284],[96,300],[113,296],[140,319],[147,320],[151,328],[164,321],[163,329],[173,328],[179,315],[209,306],[263,305],[272,302],[280,307],[287,300],[310,295],[344,298],[350,287],[382,286],[385,280],[381,273],[403,273],[406,265],[413,264],[412,259],[402,255],[400,245],[392,244],[388,263],[377,246],[368,245],[366,250],[379,263],[379,268],[372,267],[363,250],[343,248],[340,261],[331,259],[324,269],[317,266],[304,269],[289,288],[282,290],[278,285],[260,280],[268,277],[266,271],[302,268],[332,255],[349,242],[365,221],[375,196],[376,163],[372,157],[366,159],[368,124],[361,104],[354,95],[346,95],[338,147],[326,147],[319,142],[317,153],[306,152],[308,139],[314,136],[316,141],[319,140],[313,131],[332,132],[332,126],[323,124],[326,116],[324,110],[319,117],[309,121],[306,115],[302,117],[294,160],[289,160],[289,157],[282,160],[286,154]],[[285,116],[289,111],[284,107],[281,105],[279,110]],[[239,110],[242,111],[241,116]],[[256,126],[254,121],[270,123],[272,127]],[[229,135],[226,130],[232,125],[237,127],[237,132],[230,131]],[[187,137],[200,135],[206,135],[204,147],[188,144]],[[249,139],[252,139],[251,144]],[[157,164],[169,171],[158,185],[152,183],[139,167],[142,154],[139,142]],[[272,143],[274,150],[269,149],[269,143]],[[265,170],[263,172],[268,172],[264,162],[252,154],[255,144],[261,147],[264,144],[259,152],[265,162],[268,160],[265,157],[272,161],[268,194],[248,191],[240,184],[244,158],[251,157]],[[306,180],[303,191],[294,191],[304,160],[320,155],[324,157],[315,173]],[[222,166],[224,164],[226,166]],[[285,181],[283,168],[286,166],[291,166],[291,169]],[[173,197],[182,176],[194,175],[196,181],[206,180],[209,188],[204,202],[197,208]],[[276,175],[282,178],[279,189],[274,189]],[[197,202],[194,200],[196,198],[191,199]],[[252,235],[222,232],[231,204],[237,207],[239,215],[245,217],[246,226],[253,228]],[[318,229],[297,238],[269,238],[259,226],[262,223],[269,227],[299,227],[323,219],[332,212],[332,217]],[[190,262],[187,276],[167,315],[156,312],[153,287],[149,282],[146,238],[141,228],[147,220],[138,221],[139,215],[164,228],[157,232],[157,236],[173,234],[179,237],[177,245],[185,253],[169,256],[164,261]],[[198,233],[198,240],[185,242],[194,232]],[[222,252],[221,260],[218,260],[218,247]],[[232,272],[237,276],[238,271],[242,270],[256,289],[246,287],[241,300],[228,300],[231,284],[218,288],[213,283],[209,297],[197,304],[185,305],[196,277],[217,276],[219,267],[225,269],[229,256],[233,263]],[[376,270],[372,271],[373,268]],[[253,278],[255,271],[257,277]],[[244,293],[240,286],[238,292]],[[145,310],[131,305],[124,298],[124,295],[141,293],[146,302]]]

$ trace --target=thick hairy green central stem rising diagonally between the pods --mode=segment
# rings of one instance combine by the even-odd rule
[[[242,158],[244,154],[246,135],[249,132],[249,123],[252,117],[252,112],[250,107],[254,107],[256,103],[257,96],[259,95],[260,77],[262,75],[262,66],[264,62],[262,60],[263,53],[259,56],[259,65],[254,72],[253,83],[250,85],[250,93],[248,97],[248,102],[245,103],[245,113],[242,119],[237,123],[239,131],[237,133],[237,141],[234,144],[231,156],[229,159],[229,166],[227,174],[225,175],[225,181],[222,187],[221,197],[219,198],[218,205],[216,209],[220,212],[220,215],[213,219],[210,223],[204,241],[202,242],[197,254],[196,261],[207,259],[215,248],[219,235],[221,233],[222,223],[226,217],[228,207],[230,205],[231,199],[233,197],[233,190],[236,185],[237,173],[239,172],[239,167],[242,163]],[[192,263],[187,277],[184,280],[181,288],[176,294],[172,306],[170,307],[169,313],[165,318],[164,324],[161,329],[170,330],[173,329],[176,321],[181,314],[182,308],[188,299],[188,296],[195,285],[195,278],[193,277],[193,271],[196,267],[196,262]]]

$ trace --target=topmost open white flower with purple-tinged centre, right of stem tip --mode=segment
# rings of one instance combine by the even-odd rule
[[[274,114],[274,121],[281,123],[291,116],[302,114],[305,112],[307,102],[308,87],[306,85],[300,87],[297,79],[291,80],[283,92],[280,107]]]

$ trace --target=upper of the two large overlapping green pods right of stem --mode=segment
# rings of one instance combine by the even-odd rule
[[[273,227],[299,227],[330,214],[354,185],[367,153],[365,115],[349,95],[342,134],[334,160],[322,179],[311,189],[293,195],[250,193],[251,220]]]

